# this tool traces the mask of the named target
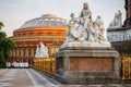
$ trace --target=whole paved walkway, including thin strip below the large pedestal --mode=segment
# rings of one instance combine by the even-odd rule
[[[131,85],[62,85],[33,69],[0,69],[0,87],[131,87]]]

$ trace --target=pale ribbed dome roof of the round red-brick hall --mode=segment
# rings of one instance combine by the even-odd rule
[[[57,17],[53,14],[45,14],[40,17],[29,20],[24,23],[20,28],[27,27],[43,27],[43,26],[64,26],[67,23],[66,20]]]

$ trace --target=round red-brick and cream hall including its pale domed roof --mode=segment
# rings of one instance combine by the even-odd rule
[[[48,48],[49,57],[55,57],[60,46],[66,40],[67,21],[53,14],[45,14],[25,22],[11,37],[15,47],[11,51],[8,62],[28,62],[33,59],[39,41]]]

